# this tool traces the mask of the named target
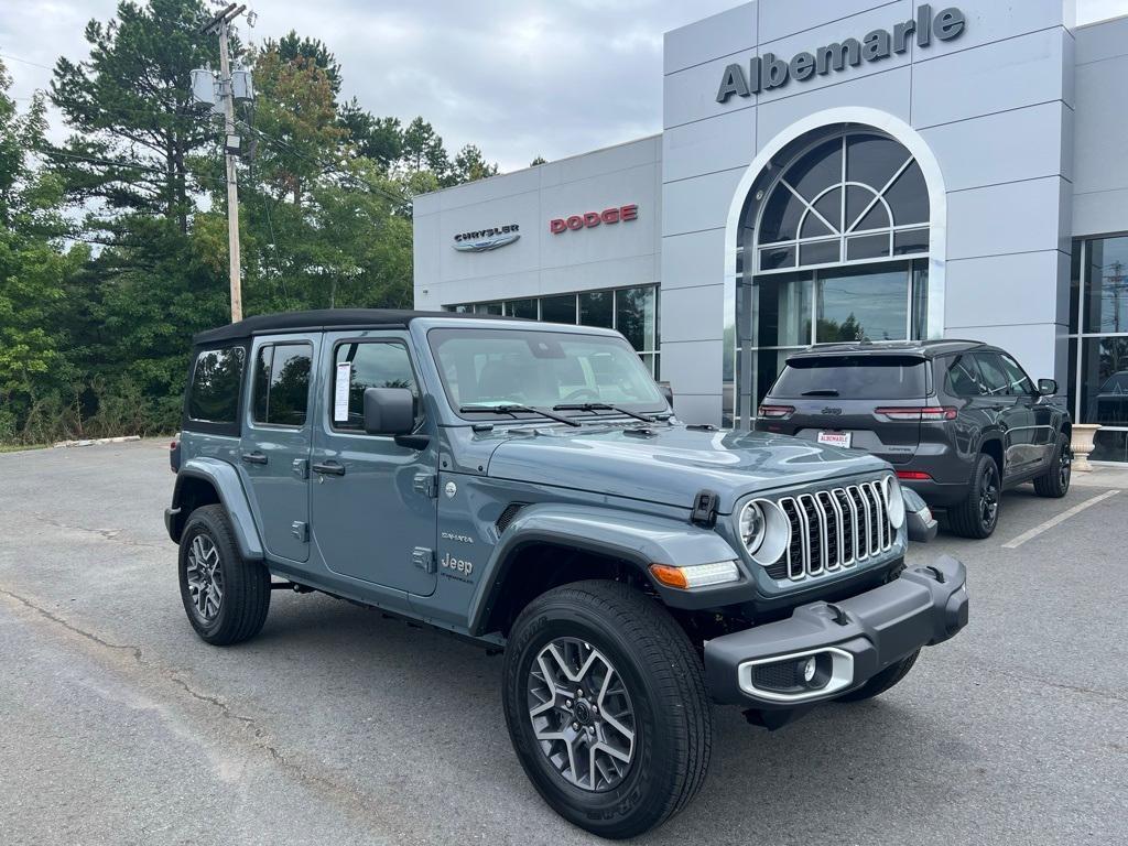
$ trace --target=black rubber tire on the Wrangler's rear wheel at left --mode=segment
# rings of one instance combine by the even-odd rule
[[[190,580],[197,572],[193,563],[193,544],[200,538],[200,544],[215,550],[218,562],[213,569],[218,571],[218,584],[221,588],[218,608],[209,614],[206,590],[203,591],[204,610],[201,610],[197,598],[201,591],[193,594]],[[210,554],[209,554],[210,555]],[[229,646],[254,637],[266,622],[266,613],[271,607],[271,574],[258,562],[246,561],[239,554],[239,545],[231,532],[227,512],[222,505],[204,505],[192,512],[180,537],[179,555],[180,600],[184,611],[188,615],[192,627],[208,643],[215,646]]]

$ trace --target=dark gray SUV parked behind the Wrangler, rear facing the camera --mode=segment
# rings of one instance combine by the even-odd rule
[[[1072,424],[1056,393],[977,341],[834,344],[787,359],[756,429],[880,456],[952,531],[986,538],[1003,490],[1069,490]]]

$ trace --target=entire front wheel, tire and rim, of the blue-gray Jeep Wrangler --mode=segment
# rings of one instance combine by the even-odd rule
[[[700,659],[637,590],[588,581],[535,599],[510,634],[503,684],[526,774],[592,834],[641,835],[705,781],[713,715]]]

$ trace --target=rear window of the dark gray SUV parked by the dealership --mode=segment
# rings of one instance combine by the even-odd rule
[[[773,398],[923,399],[927,367],[911,355],[827,355],[791,359],[768,394]]]

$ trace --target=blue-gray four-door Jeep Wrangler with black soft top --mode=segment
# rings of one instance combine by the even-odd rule
[[[711,700],[777,728],[867,699],[968,619],[962,564],[906,569],[934,523],[889,465],[679,423],[611,331],[253,317],[195,337],[171,461],[203,640],[254,636],[282,588],[504,650],[521,765],[605,837],[694,796]]]

